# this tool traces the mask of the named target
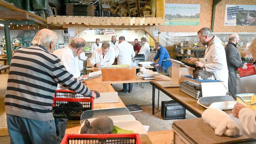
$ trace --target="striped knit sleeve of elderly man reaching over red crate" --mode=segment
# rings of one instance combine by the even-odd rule
[[[75,79],[73,75],[66,70],[58,57],[54,59],[54,61],[52,78],[56,83],[81,95],[92,96],[91,90],[79,80]]]

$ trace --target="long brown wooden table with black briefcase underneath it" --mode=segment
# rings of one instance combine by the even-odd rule
[[[182,105],[186,110],[190,111],[193,115],[196,117],[201,117],[204,110],[206,110],[204,107],[197,104],[197,99],[187,95],[186,93],[179,90],[179,87],[173,87],[173,88],[163,88],[158,83],[155,83],[154,81],[151,82],[153,86],[152,90],[152,114],[154,115],[154,105],[155,105],[155,88],[165,93],[168,97],[172,98],[174,101]],[[232,110],[223,110],[227,114],[232,114]]]

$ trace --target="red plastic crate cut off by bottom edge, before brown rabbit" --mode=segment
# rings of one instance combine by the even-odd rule
[[[66,134],[60,144],[141,144],[139,134]]]

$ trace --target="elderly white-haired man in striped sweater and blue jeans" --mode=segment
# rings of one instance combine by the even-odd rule
[[[96,97],[52,54],[56,43],[56,32],[42,29],[32,41],[34,46],[20,48],[11,60],[4,104],[13,144],[57,143],[52,115],[57,84]]]

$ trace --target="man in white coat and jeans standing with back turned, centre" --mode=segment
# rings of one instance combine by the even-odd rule
[[[117,57],[118,65],[131,65],[132,58],[135,56],[135,52],[133,50],[133,46],[125,41],[123,36],[119,37],[119,42],[116,46],[115,53]],[[123,89],[120,91],[121,93],[133,92],[133,83],[129,83],[129,91],[127,90],[127,83],[123,84]]]

